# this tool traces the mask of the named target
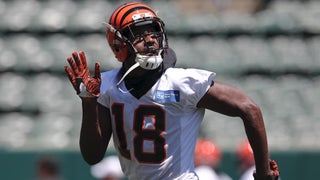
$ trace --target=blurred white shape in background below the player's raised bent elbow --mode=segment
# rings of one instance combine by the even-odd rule
[[[91,174],[99,180],[121,180],[124,179],[118,156],[105,157],[98,164],[91,166]]]

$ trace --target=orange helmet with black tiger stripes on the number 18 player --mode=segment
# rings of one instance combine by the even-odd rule
[[[132,29],[137,26],[154,26],[157,31],[157,37],[159,38],[159,50],[167,48],[164,23],[158,18],[151,7],[143,3],[130,2],[121,5],[112,13],[109,23],[106,25],[108,44],[120,62],[124,62],[130,53],[139,53],[135,51],[130,42],[130,38],[136,38],[136,35],[132,33]]]

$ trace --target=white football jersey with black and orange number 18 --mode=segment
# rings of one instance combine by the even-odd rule
[[[140,99],[116,87],[120,69],[101,75],[98,102],[110,109],[113,141],[129,179],[197,179],[194,147],[205,109],[198,101],[215,73],[169,68]]]

